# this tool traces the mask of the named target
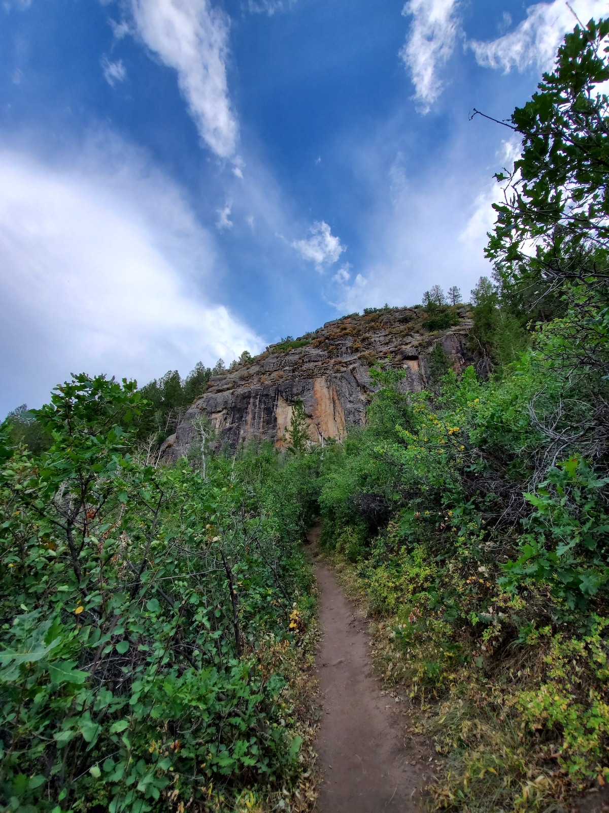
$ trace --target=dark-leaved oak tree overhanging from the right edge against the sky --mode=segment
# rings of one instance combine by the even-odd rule
[[[555,70],[514,111],[522,154],[497,176],[504,201],[486,247],[505,296],[562,299],[568,312],[544,331],[544,353],[596,381],[594,404],[607,399],[609,375],[609,98],[598,92],[607,52],[609,20],[576,26]]]

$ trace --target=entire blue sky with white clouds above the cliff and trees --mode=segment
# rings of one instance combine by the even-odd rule
[[[573,0],[582,20],[606,0]],[[464,292],[564,0],[4,0],[0,411]]]

